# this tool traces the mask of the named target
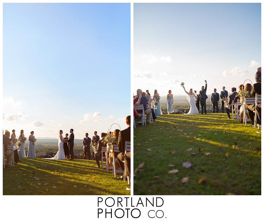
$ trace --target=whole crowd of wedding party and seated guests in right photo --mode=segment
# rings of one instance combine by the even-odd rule
[[[251,127],[258,125],[259,128],[261,126],[261,67],[257,69],[255,82],[256,83],[254,84],[252,84],[252,82],[246,83],[245,85],[240,84],[238,86],[238,92],[235,86],[230,89],[231,91],[229,90],[230,92],[226,90],[225,86],[222,86],[220,95],[215,88],[214,92],[211,94],[211,109],[206,106],[206,99],[208,98],[206,94],[207,80],[205,80],[205,86],[201,86],[201,90],[198,94],[196,94],[196,90],[193,90],[192,88],[189,89],[189,92],[186,91],[184,86],[185,83],[181,82],[180,86],[183,87],[187,94],[186,97],[189,101],[190,107],[185,110],[181,109],[180,111],[178,109],[174,110],[173,94],[172,91],[169,90],[167,94],[167,114],[184,113],[185,115],[193,115],[199,113],[207,114],[211,112],[226,112],[228,119],[231,119],[231,113],[232,119],[237,119],[239,123],[247,124],[247,122],[249,122],[251,123]],[[157,90],[154,90],[154,94],[151,96],[149,90],[142,92],[141,89],[138,89],[137,95],[135,95],[133,99],[134,127],[136,127],[138,123],[142,123],[142,125],[144,125],[144,123],[146,125],[151,124],[159,115],[163,115],[160,106],[160,95]],[[240,100],[240,103],[238,100]],[[221,101],[221,106],[218,106],[219,101]],[[234,116],[234,114],[236,114],[236,116]],[[258,130],[257,133],[261,133],[261,130]]]

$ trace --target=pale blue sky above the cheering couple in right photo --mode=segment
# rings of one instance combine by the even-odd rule
[[[260,3],[134,4],[134,93],[230,92],[260,66]]]

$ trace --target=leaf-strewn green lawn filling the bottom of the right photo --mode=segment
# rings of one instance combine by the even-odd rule
[[[134,129],[134,170],[145,165],[135,173],[134,195],[261,195],[261,134],[250,125],[222,113],[162,115],[151,125],[139,125]],[[182,167],[186,161],[192,167]],[[168,174],[172,169],[179,172]],[[184,177],[189,182],[183,184]]]

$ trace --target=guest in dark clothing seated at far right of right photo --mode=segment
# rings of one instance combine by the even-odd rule
[[[253,84],[252,91],[251,91],[251,95],[253,97],[255,97],[256,94],[261,94],[261,67],[259,67],[258,71],[256,72],[255,80],[256,80],[256,83]],[[255,104],[248,105],[247,109],[248,109],[249,121],[252,123],[251,127],[254,127],[255,113],[253,111],[255,111]],[[258,118],[260,119],[258,120],[259,123],[257,122],[257,124],[261,124],[261,104],[258,106],[256,110],[257,110],[257,119]]]

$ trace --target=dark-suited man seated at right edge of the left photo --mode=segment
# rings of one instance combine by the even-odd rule
[[[130,141],[130,116],[127,116],[126,123],[127,123],[127,129],[124,129],[119,132],[118,141],[117,141],[117,149],[120,151],[120,153],[117,155],[117,160],[123,172],[124,172],[123,161],[124,161],[124,153],[125,153],[125,141]],[[119,178],[122,179],[123,175]]]

